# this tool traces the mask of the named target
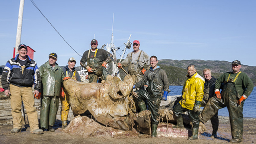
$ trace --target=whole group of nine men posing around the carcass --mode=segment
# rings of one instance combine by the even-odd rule
[[[83,53],[80,65],[88,71],[89,82],[101,82],[109,75],[106,65],[111,61],[112,54],[104,49],[98,49],[98,41],[91,41],[91,49]],[[50,53],[49,60],[38,69],[35,61],[26,55],[27,47],[20,44],[18,55],[7,61],[2,73],[2,87],[5,95],[10,96],[11,114],[13,118],[13,129],[11,133],[18,133],[21,130],[21,102],[23,101],[33,134],[42,134],[43,131],[54,132],[58,110],[59,98],[61,101],[62,128],[67,126],[69,112],[69,95],[62,87],[64,80],[72,78],[81,81],[75,70],[76,60],[71,57],[68,65],[61,69],[57,61],[57,54]],[[160,102],[167,100],[170,92],[169,82],[165,70],[158,65],[156,56],[151,56],[140,50],[140,42],[133,41],[133,51],[120,63],[118,68],[128,67],[128,73],[135,75],[135,85],[132,92],[134,101],[141,111],[151,112],[152,137],[157,136],[159,124],[158,110]],[[212,76],[210,69],[204,69],[201,77],[196,66],[190,64],[187,67],[187,80],[182,90],[182,98],[174,106],[173,112],[177,125],[173,128],[183,129],[184,112],[188,112],[192,122],[192,136],[188,140],[198,139],[200,121],[205,123],[211,120],[213,125],[212,138],[217,138],[219,127],[218,110],[228,107],[232,130],[233,143],[240,143],[243,140],[243,106],[245,100],[253,91],[252,80],[244,72],[240,71],[241,62],[232,62],[231,72],[221,75],[218,79]],[[145,89],[144,85],[148,87]],[[32,94],[31,87],[34,86]],[[37,112],[34,107],[35,97],[41,96],[40,128],[38,126]],[[200,107],[204,107],[200,113]]]

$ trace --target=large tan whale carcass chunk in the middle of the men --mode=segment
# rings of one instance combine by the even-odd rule
[[[70,106],[74,115],[87,110],[95,121],[120,130],[131,130],[135,104],[130,96],[135,76],[127,75],[124,81],[108,76],[102,83],[83,83],[72,79],[63,82],[70,95]]]

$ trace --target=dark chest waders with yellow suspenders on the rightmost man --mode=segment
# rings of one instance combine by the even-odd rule
[[[232,138],[236,140],[243,140],[243,106],[244,102],[241,105],[238,105],[237,102],[241,96],[238,94],[236,90],[236,80],[241,72],[237,74],[234,80],[230,79],[230,75],[227,81],[224,82],[223,90],[222,90],[222,98],[218,99],[217,97],[213,97],[209,100],[209,104],[204,108],[201,119],[204,122],[207,122],[218,109],[222,109],[227,107],[229,111],[230,117],[230,125],[231,125],[231,133]]]

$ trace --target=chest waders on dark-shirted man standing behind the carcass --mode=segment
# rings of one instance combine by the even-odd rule
[[[96,57],[97,51],[98,49],[96,49],[94,56],[90,58],[91,50],[89,50],[87,56],[87,65],[92,69],[96,69],[92,73],[88,72],[88,79],[90,83],[97,83],[101,80],[106,80],[107,75],[109,75],[107,69],[101,66],[103,62],[99,62],[98,58]],[[98,81],[99,78],[101,79],[100,81]]]

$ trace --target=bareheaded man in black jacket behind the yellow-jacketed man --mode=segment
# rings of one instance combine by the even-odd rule
[[[208,68],[203,70],[203,74],[205,77],[205,84],[204,84],[204,97],[201,103],[201,107],[205,107],[207,102],[210,98],[215,96],[214,88],[215,88],[215,81],[216,78],[212,76],[212,71]],[[212,139],[217,138],[217,131],[219,128],[219,117],[218,117],[218,111],[217,113],[211,118],[212,128],[213,128],[213,134],[211,136]]]

